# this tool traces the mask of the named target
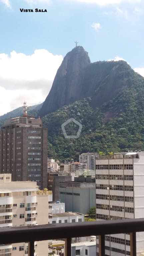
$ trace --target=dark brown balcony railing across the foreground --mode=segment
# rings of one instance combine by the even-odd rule
[[[0,229],[1,244],[28,242],[28,256],[34,256],[34,242],[64,239],[65,256],[71,256],[71,238],[99,236],[99,256],[105,255],[105,235],[130,233],[131,256],[136,255],[136,232],[144,231],[144,218],[12,227]]]

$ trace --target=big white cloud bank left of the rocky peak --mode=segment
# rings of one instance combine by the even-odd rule
[[[32,55],[12,51],[0,54],[0,115],[22,106],[34,105],[48,95],[63,57],[45,49]]]

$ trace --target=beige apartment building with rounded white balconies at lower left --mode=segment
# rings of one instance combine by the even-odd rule
[[[0,174],[0,227],[48,224],[48,201],[52,200],[52,191],[37,193],[36,182],[12,182],[11,174]],[[27,254],[28,243],[0,245],[2,256]],[[35,242],[35,255],[48,255],[48,241]]]

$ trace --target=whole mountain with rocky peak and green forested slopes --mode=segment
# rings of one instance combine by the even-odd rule
[[[127,62],[90,63],[83,47],[76,47],[64,58],[49,95],[40,110],[49,157],[78,161],[86,152],[144,150],[144,77]],[[61,125],[69,118],[82,124],[78,139],[64,137]],[[73,122],[65,129],[67,135],[78,131]]]

